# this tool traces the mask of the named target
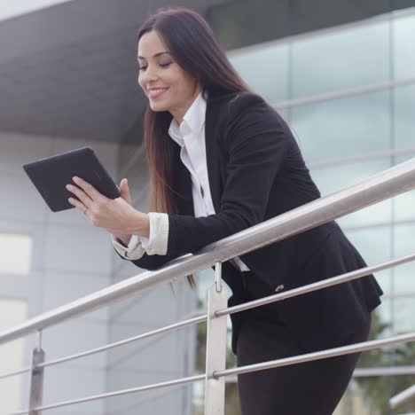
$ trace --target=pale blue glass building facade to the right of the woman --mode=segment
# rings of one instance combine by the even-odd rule
[[[215,16],[210,13],[211,24],[224,43],[249,43],[228,33],[240,25],[230,24],[225,30]],[[262,29],[262,35],[265,32]],[[237,47],[228,56],[249,86],[293,129],[323,196],[415,157],[415,9],[285,35]],[[414,207],[415,192],[408,192],[338,223],[366,262],[374,265],[414,252]],[[208,277],[200,278],[201,298],[211,283],[206,272]],[[414,331],[415,263],[376,277],[385,295],[373,319],[372,337]],[[411,365],[413,350],[383,348],[364,354],[360,365]],[[389,412],[387,400],[413,383],[415,378],[402,376],[354,380],[336,413],[403,413],[404,407]],[[415,406],[406,409],[413,411]]]

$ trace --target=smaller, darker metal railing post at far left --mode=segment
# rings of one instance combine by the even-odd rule
[[[44,362],[44,351],[42,349],[42,330],[37,332],[37,344],[32,355],[32,370],[30,372],[30,395],[29,415],[41,415],[41,411],[34,408],[42,406],[43,403],[43,367],[37,367]]]

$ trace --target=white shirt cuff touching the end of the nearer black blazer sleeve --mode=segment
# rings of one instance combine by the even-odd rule
[[[140,237],[141,246],[149,255],[165,255],[168,250],[168,214],[150,212],[150,235]]]

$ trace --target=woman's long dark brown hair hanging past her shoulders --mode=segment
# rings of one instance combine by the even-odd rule
[[[185,8],[163,9],[140,27],[138,41],[145,33],[156,31],[176,63],[198,79],[209,98],[239,94],[249,90],[223,49],[212,29],[199,13]],[[145,110],[144,143],[150,176],[148,206],[153,212],[178,213],[173,190],[173,140],[168,137],[172,120],[168,111]],[[194,286],[192,276],[188,277]]]

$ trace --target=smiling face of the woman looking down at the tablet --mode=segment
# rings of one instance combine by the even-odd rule
[[[200,93],[200,82],[176,63],[154,30],[141,36],[137,59],[138,83],[152,110],[168,111],[181,122]]]

